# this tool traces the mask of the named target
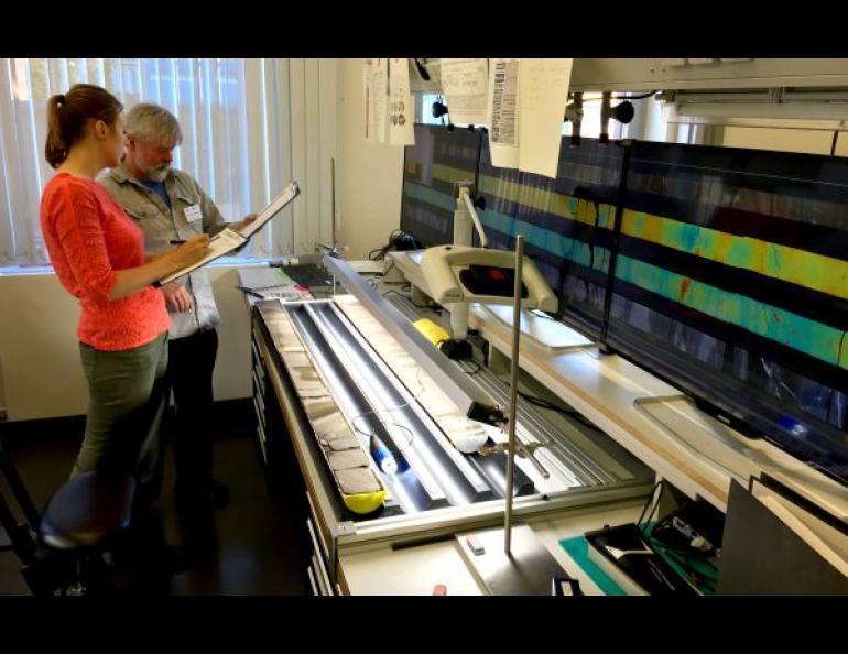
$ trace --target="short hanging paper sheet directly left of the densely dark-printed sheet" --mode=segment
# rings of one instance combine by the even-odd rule
[[[442,89],[454,124],[482,124],[489,101],[488,59],[442,59]]]

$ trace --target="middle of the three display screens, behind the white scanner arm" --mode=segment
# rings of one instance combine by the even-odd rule
[[[479,212],[490,247],[512,250],[515,236],[559,298],[558,316],[589,338],[600,335],[609,275],[615,201],[622,150],[583,139],[559,148],[555,179],[491,164],[488,135],[480,153]]]

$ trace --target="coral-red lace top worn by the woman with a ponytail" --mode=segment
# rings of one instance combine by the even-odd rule
[[[127,350],[171,328],[159,288],[109,299],[118,271],[144,263],[144,232],[97,182],[55,175],[42,195],[41,229],[59,282],[83,307],[80,341]]]

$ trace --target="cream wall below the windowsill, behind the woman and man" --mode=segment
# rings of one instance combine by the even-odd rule
[[[215,399],[252,394],[250,316],[235,268],[209,269],[221,315]],[[0,275],[0,374],[10,421],[80,415],[88,394],[76,327],[79,305],[56,275]]]

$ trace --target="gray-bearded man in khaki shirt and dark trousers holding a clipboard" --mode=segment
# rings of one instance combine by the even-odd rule
[[[199,233],[215,236],[226,227],[239,230],[251,214],[228,224],[215,203],[187,173],[171,167],[183,140],[170,111],[151,103],[133,107],[124,119],[127,154],[98,182],[144,231],[145,254],[173,248],[172,241]],[[229,489],[213,477],[213,370],[218,351],[220,316],[208,274],[200,268],[165,284],[172,327],[168,335],[168,379],[174,392],[173,430],[175,494],[178,505],[224,509]]]

